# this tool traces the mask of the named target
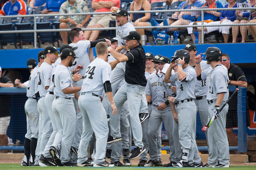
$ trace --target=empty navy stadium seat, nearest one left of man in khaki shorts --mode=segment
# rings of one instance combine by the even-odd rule
[[[52,22],[37,22],[37,29],[52,29]],[[45,42],[52,42],[52,45],[54,46],[54,40],[55,40],[55,32],[38,32],[37,33],[39,38],[38,41],[38,47],[40,48],[40,43]]]

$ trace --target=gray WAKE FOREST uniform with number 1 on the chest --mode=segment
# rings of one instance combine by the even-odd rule
[[[148,145],[149,145],[149,154],[150,159],[152,161],[158,161],[158,147],[157,147],[157,135],[159,132],[159,127],[162,122],[165,126],[166,134],[170,143],[170,161],[174,161],[175,151],[173,145],[173,135],[172,135],[172,127],[173,127],[173,115],[172,110],[169,105],[162,110],[159,111],[157,108],[159,104],[166,102],[167,95],[171,95],[170,88],[167,90],[167,86],[169,84],[163,82],[163,74],[151,74],[148,76],[147,86],[146,86],[146,94],[152,96],[152,111],[150,114],[149,122],[148,122]]]

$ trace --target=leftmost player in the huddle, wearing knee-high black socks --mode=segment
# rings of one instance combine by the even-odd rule
[[[34,166],[35,165],[35,149],[38,139],[38,119],[39,113],[37,111],[37,98],[35,96],[35,87],[38,86],[37,74],[39,67],[44,62],[44,51],[38,53],[38,65],[33,68],[30,74],[28,87],[27,87],[27,101],[25,103],[25,113],[27,120],[27,133],[25,134],[24,141],[24,158],[22,159],[21,166]]]

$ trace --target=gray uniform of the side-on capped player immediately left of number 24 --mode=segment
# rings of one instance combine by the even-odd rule
[[[52,103],[52,110],[58,128],[56,136],[61,136],[62,133],[60,160],[61,163],[66,163],[70,161],[69,151],[75,135],[71,127],[76,125],[74,94],[64,94],[62,91],[64,88],[73,87],[70,69],[62,64],[57,65],[53,83],[55,98]]]

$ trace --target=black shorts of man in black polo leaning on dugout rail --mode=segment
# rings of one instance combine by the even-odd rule
[[[246,127],[249,127],[251,124],[250,122],[250,115],[249,115],[249,109],[246,109]],[[226,121],[226,129],[237,127],[237,110],[229,110],[227,112],[227,121]]]

